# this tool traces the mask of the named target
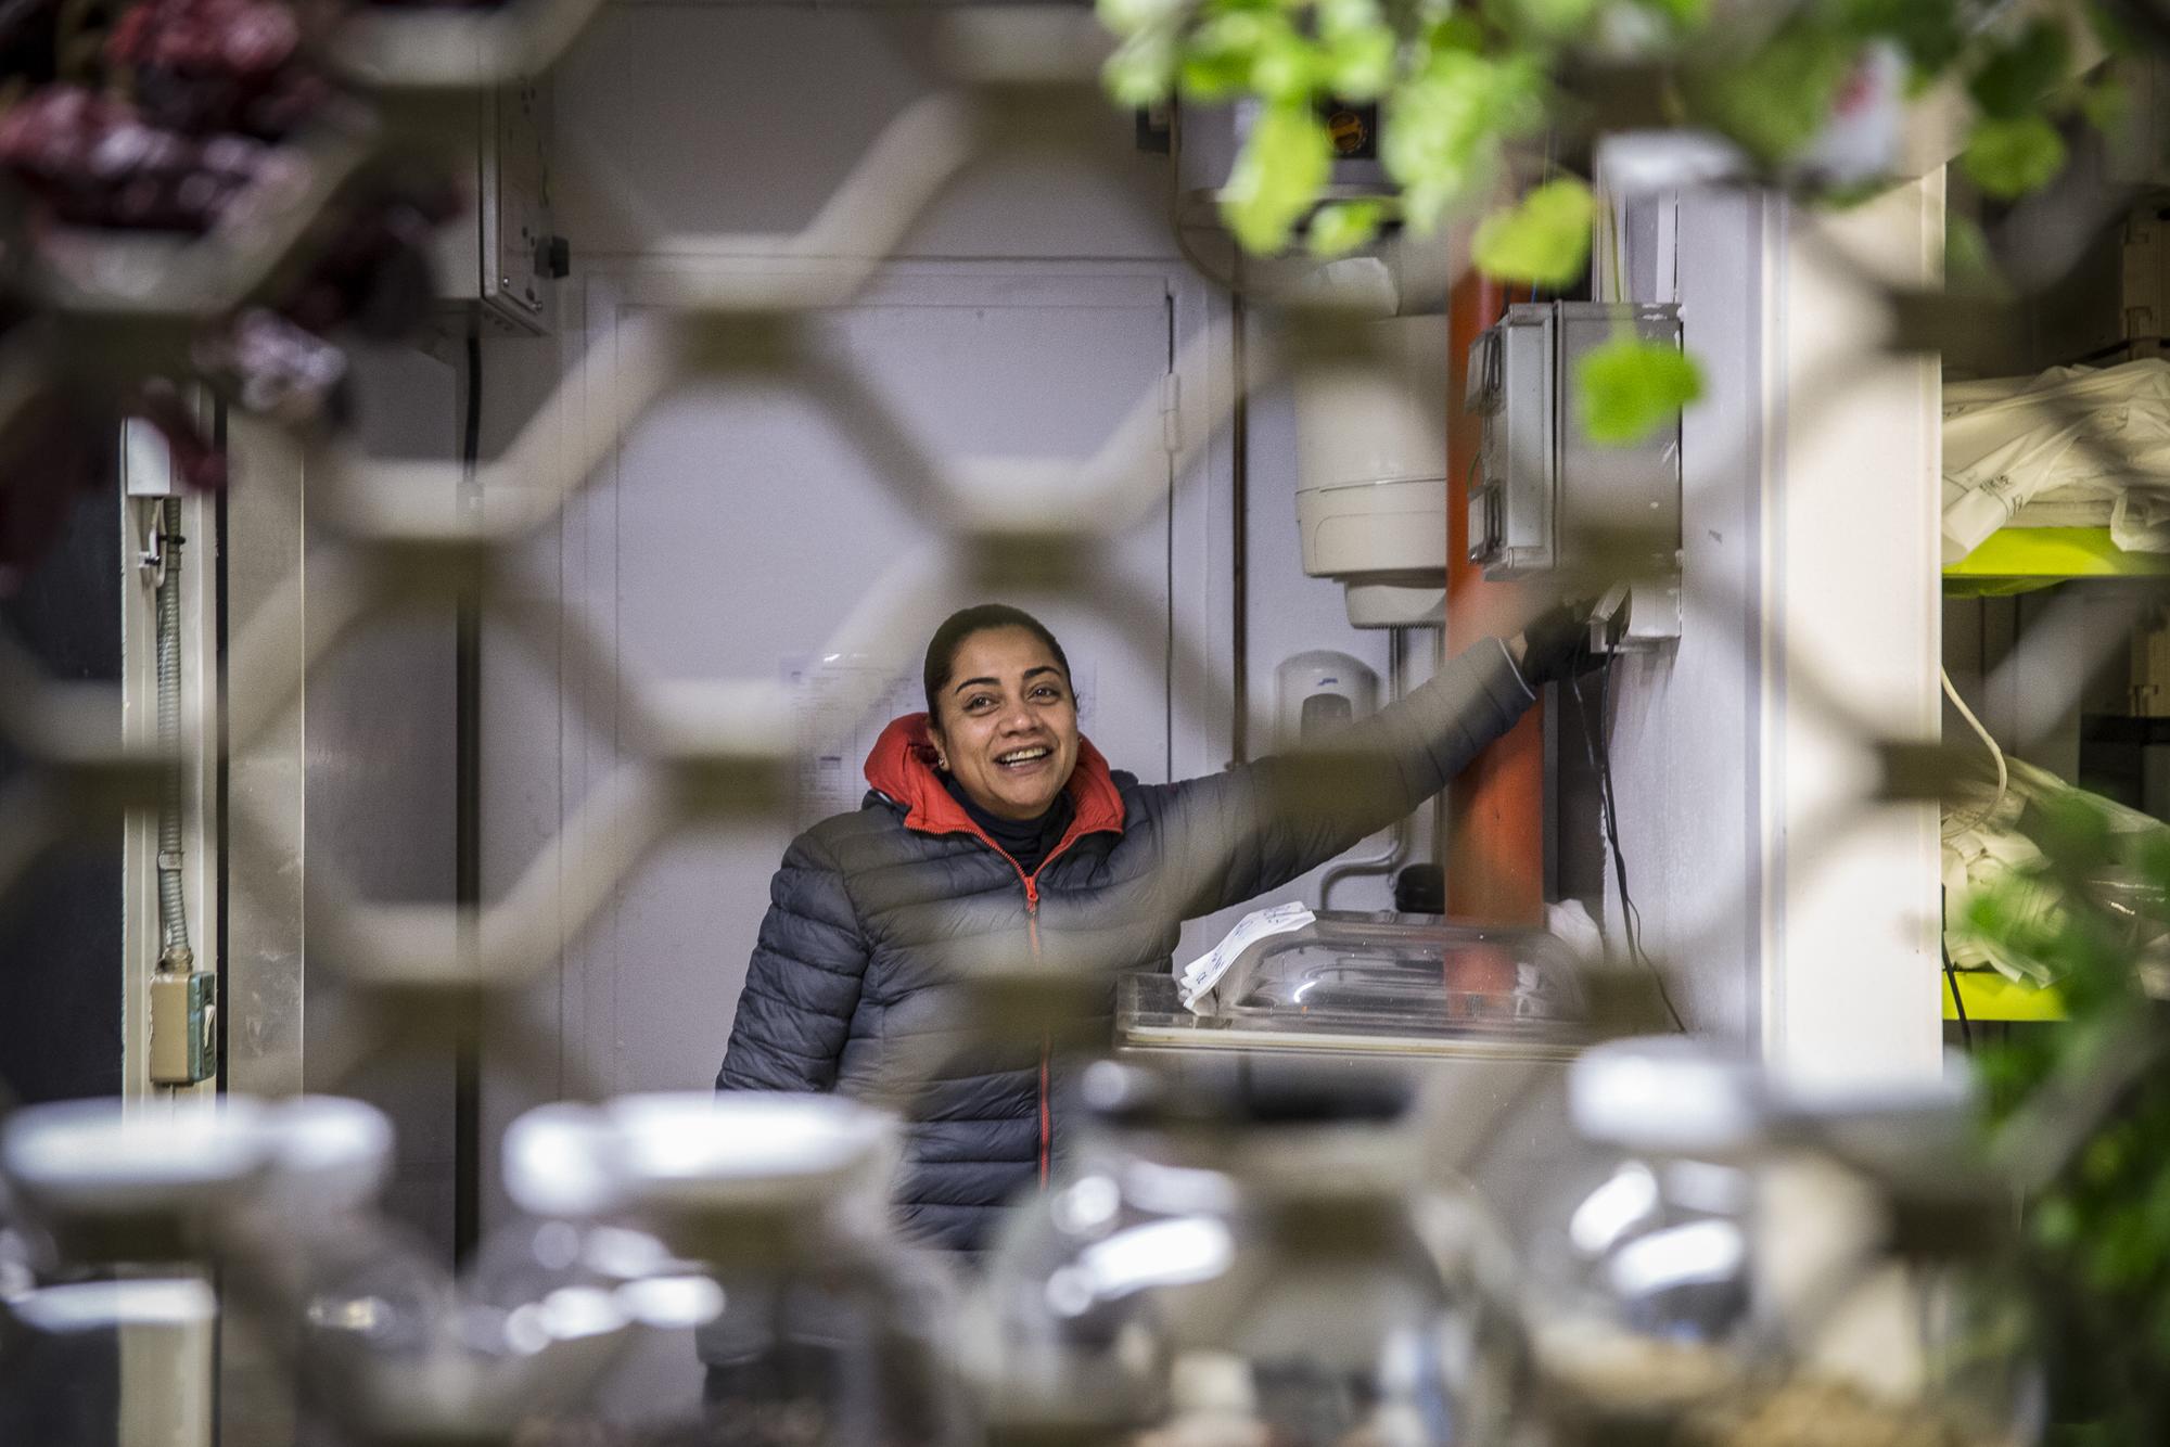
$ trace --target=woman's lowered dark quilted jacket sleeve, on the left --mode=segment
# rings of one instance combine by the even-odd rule
[[[718,1091],[827,1091],[866,981],[866,937],[835,859],[799,835],[768,883]]]

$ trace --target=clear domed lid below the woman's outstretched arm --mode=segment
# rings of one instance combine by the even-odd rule
[[[1174,974],[1124,976],[1120,1002],[1131,1046],[1567,1054],[1584,1026],[1558,937],[1384,911],[1259,911]]]

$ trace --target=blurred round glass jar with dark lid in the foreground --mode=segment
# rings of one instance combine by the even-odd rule
[[[1081,1093],[1089,1139],[970,1315],[998,1440],[1508,1440],[1528,1375],[1504,1247],[1424,1182],[1404,1085],[1100,1063]]]

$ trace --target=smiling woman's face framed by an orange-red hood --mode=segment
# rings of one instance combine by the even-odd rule
[[[966,636],[931,733],[966,798],[996,818],[1039,818],[1078,764],[1070,677],[1022,627]]]

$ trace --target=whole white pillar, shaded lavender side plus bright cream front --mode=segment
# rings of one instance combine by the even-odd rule
[[[1936,811],[1871,796],[1879,738],[1938,731],[1938,380],[1884,351],[1868,278],[1936,276],[1942,176],[1836,217],[1682,195],[1645,243],[1632,295],[1680,302],[1710,388],[1682,640],[1619,681],[1647,944],[1693,1028],[1803,1074],[1933,1072]]]

